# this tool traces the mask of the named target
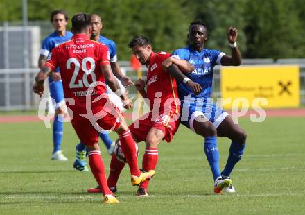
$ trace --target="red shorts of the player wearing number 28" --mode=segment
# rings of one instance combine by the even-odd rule
[[[101,108],[102,110],[102,108]],[[112,113],[107,112],[103,114],[103,118],[95,121],[92,119],[75,119],[72,120],[72,126],[78,135],[78,138],[85,145],[92,146],[98,142],[99,131],[103,130],[116,130],[121,125],[121,118],[123,116],[118,107],[114,105]]]

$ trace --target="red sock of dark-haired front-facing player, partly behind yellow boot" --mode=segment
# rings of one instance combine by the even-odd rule
[[[142,167],[143,170],[155,170],[158,162],[158,150],[157,148],[146,148],[143,156]],[[148,189],[149,180],[141,182],[140,187]]]

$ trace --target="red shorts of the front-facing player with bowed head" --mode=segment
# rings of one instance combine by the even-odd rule
[[[152,119],[152,112],[144,114],[142,117],[134,121],[130,126],[130,132],[137,141],[145,141],[146,136],[151,128],[162,130],[164,138],[168,143],[173,139],[175,132],[179,127],[178,114],[159,113],[157,119]],[[156,118],[156,117],[154,117]]]

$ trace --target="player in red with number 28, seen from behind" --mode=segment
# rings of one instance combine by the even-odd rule
[[[98,146],[98,130],[112,129],[119,135],[121,148],[130,166],[132,185],[151,178],[155,171],[142,173],[139,170],[137,152],[130,131],[119,109],[107,99],[105,81],[114,92],[119,91],[119,85],[110,68],[107,46],[89,40],[92,33],[89,15],[74,15],[72,32],[72,40],[60,44],[50,53],[46,64],[35,77],[33,91],[42,96],[44,80],[51,71],[60,67],[71,123],[79,139],[87,147],[89,165],[103,192],[103,202],[118,203],[107,186],[105,167]],[[118,94],[125,108],[132,107],[132,102],[125,94]]]

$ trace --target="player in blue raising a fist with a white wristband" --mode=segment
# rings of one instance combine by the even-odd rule
[[[213,67],[215,65],[238,66],[241,65],[241,53],[236,46],[237,30],[229,28],[227,40],[231,46],[231,56],[214,49],[204,49],[207,40],[207,27],[202,22],[192,22],[189,26],[189,46],[173,52],[173,58],[188,60],[195,70],[186,74],[189,79],[200,83],[202,92],[193,94],[184,83],[178,83],[178,94],[182,101],[181,123],[191,128],[196,134],[204,137],[204,152],[207,156],[214,176],[214,192],[223,190],[234,193],[232,180],[229,178],[235,164],[241,160],[245,148],[246,133],[234,124],[232,117],[211,100],[213,80]],[[220,173],[217,137],[229,137],[232,144],[225,169]]]

